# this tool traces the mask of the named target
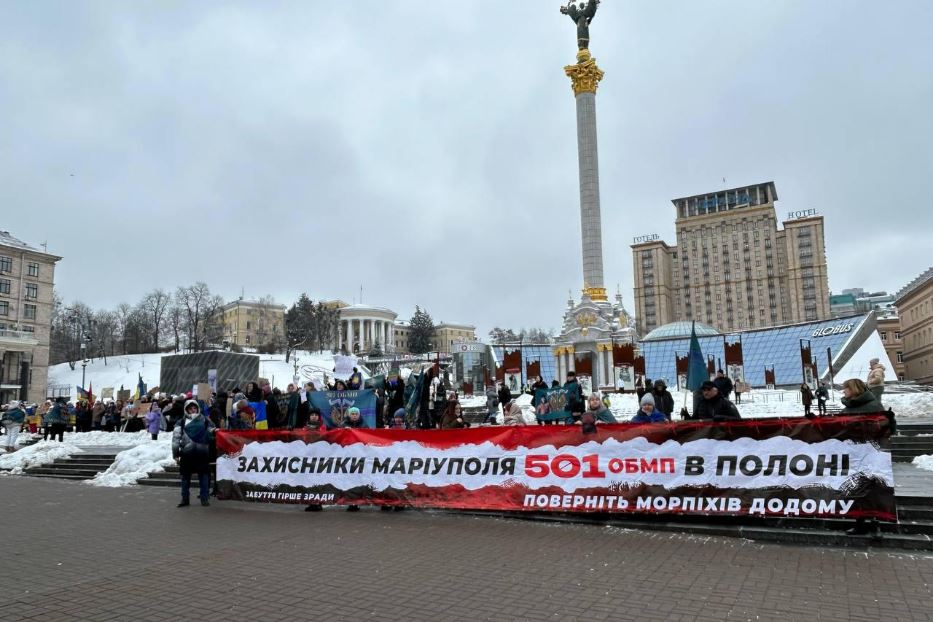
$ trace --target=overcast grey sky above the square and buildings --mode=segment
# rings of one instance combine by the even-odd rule
[[[582,286],[559,0],[0,3],[0,228],[93,307],[206,281],[558,328]],[[606,284],[675,197],[773,180],[829,284],[930,267],[933,2],[604,0]]]

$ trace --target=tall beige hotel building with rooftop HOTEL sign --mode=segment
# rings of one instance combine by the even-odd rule
[[[722,332],[829,314],[823,217],[791,212],[778,229],[774,182],[674,199],[676,246],[632,245],[636,327],[696,320]]]

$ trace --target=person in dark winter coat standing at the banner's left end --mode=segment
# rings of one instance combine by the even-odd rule
[[[214,442],[214,424],[201,412],[194,400],[184,404],[185,418],[175,424],[172,432],[172,457],[181,472],[181,503],[190,505],[191,476],[198,476],[201,505],[210,505],[210,445]]]

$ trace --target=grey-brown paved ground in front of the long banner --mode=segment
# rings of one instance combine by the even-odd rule
[[[0,477],[0,620],[931,620],[933,556]]]

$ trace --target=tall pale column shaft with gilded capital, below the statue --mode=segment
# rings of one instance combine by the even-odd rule
[[[603,284],[603,237],[599,207],[599,157],[596,148],[596,87],[602,70],[587,49],[577,64],[564,67],[577,100],[577,158],[580,165],[580,227],[583,242],[583,291],[608,300]]]

